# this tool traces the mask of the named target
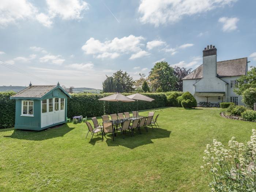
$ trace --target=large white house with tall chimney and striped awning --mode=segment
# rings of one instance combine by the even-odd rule
[[[183,80],[183,91],[189,91],[197,103],[234,102],[244,105],[241,96],[234,93],[236,79],[247,73],[247,57],[217,62],[217,49],[208,45],[203,50],[203,64]]]

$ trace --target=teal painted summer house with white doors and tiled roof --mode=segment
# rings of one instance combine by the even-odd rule
[[[67,117],[67,97],[57,85],[29,85],[10,99],[16,100],[15,129],[42,130],[63,124]]]

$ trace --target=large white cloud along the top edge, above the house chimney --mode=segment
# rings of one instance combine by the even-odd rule
[[[156,27],[167,22],[176,23],[185,15],[196,15],[231,4],[237,0],[142,0],[140,22]]]

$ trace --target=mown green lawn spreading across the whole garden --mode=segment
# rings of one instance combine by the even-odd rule
[[[256,125],[222,118],[217,108],[155,112],[161,129],[125,139],[119,132],[114,142],[85,139],[85,123],[0,129],[0,191],[210,191],[200,171],[206,144],[247,142]]]

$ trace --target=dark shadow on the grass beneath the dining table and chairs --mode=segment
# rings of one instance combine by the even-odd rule
[[[104,140],[108,144],[108,146],[124,146],[130,149],[143,146],[146,144],[154,143],[153,139],[161,139],[161,138],[169,138],[171,131],[167,131],[166,129],[154,129],[148,128],[148,132],[146,129],[141,129],[142,134],[139,134],[138,130],[135,130],[134,135],[131,137],[129,132],[126,132],[125,138],[123,139],[122,133],[118,132],[117,136],[114,138],[114,141],[111,138],[111,135],[104,137]]]

